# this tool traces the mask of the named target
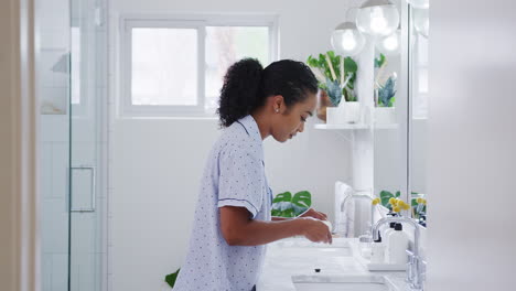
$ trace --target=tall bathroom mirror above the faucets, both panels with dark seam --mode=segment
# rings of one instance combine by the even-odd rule
[[[428,1],[410,2],[394,1],[400,26],[375,40],[374,195],[426,226]]]

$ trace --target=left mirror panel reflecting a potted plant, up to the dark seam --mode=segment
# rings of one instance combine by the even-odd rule
[[[401,14],[401,3],[395,4]],[[375,110],[374,110],[374,188],[375,196],[380,197],[383,206],[394,209],[389,198],[395,197],[407,202],[402,193],[406,190],[405,142],[401,130],[405,126],[400,119],[405,116],[406,90],[401,78],[402,72],[402,31],[405,22],[400,22],[398,30],[388,36],[375,40]],[[406,30],[406,28],[405,28]],[[409,207],[408,205],[407,208]],[[405,208],[405,209],[407,209]],[[396,208],[396,211],[402,211]]]

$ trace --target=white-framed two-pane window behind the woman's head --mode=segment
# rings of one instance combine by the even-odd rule
[[[123,116],[213,116],[224,74],[277,58],[275,17],[122,18]]]

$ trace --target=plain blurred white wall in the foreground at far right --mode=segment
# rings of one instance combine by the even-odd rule
[[[431,3],[428,290],[514,290],[515,13]]]

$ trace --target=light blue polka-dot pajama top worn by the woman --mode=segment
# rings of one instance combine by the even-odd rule
[[[246,116],[223,131],[208,155],[189,251],[173,290],[252,290],[266,246],[227,245],[218,209],[245,207],[251,219],[270,220],[271,203],[261,136]]]

